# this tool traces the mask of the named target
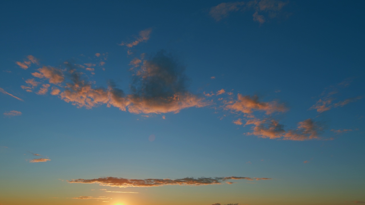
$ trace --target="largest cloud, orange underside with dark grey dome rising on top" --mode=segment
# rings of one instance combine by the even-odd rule
[[[185,67],[171,54],[160,51],[134,70],[130,85],[131,93],[116,88],[113,81],[107,89],[93,88],[80,66],[65,62],[68,69],[43,66],[32,76],[54,84],[51,94],[76,105],[91,109],[102,104],[131,113],[178,113],[181,109],[203,107],[204,98],[187,90]],[[64,72],[67,72],[66,75]],[[46,94],[50,84],[43,84],[37,94]],[[59,87],[58,87],[59,86]]]

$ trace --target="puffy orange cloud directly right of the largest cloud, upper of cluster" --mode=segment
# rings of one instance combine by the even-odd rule
[[[278,104],[276,101],[272,102],[260,102],[257,96],[242,96],[238,94],[238,100],[233,104],[228,104],[226,108],[241,111],[243,113],[250,114],[254,110],[265,111],[266,114],[271,114],[273,112],[285,112],[287,108],[284,104]]]

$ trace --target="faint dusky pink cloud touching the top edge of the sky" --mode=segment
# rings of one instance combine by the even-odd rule
[[[287,4],[283,1],[278,0],[254,0],[254,1],[237,1],[237,2],[227,2],[220,3],[215,7],[210,9],[209,14],[217,22],[223,18],[228,17],[233,12],[238,11],[249,11],[253,10],[252,15],[255,22],[263,24],[266,22],[267,18],[275,18],[278,16],[280,10]],[[265,17],[265,16],[266,17]]]

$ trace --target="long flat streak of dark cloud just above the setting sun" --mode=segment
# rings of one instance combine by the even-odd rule
[[[267,180],[271,178],[250,178],[250,177],[200,177],[191,178],[186,177],[182,179],[125,179],[116,177],[101,177],[97,179],[72,179],[69,183],[98,183],[102,186],[116,186],[116,187],[151,187],[151,186],[165,186],[165,185],[210,185],[222,184],[231,179],[246,179],[246,180]]]

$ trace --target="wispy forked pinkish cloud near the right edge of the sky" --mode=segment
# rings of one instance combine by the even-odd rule
[[[335,94],[339,93],[339,90],[349,86],[350,83],[351,83],[351,80],[346,79],[337,85],[326,88],[322,92],[322,94],[320,94],[321,97],[316,102],[316,104],[312,105],[312,107],[310,107],[309,109],[310,110],[315,109],[317,112],[322,113],[322,112],[328,111],[332,108],[343,107],[343,106],[349,104],[350,102],[355,102],[355,101],[360,100],[362,98],[362,96],[347,98],[345,100],[340,100],[340,101],[335,102],[337,100],[337,98],[335,98],[333,96],[335,96]]]

